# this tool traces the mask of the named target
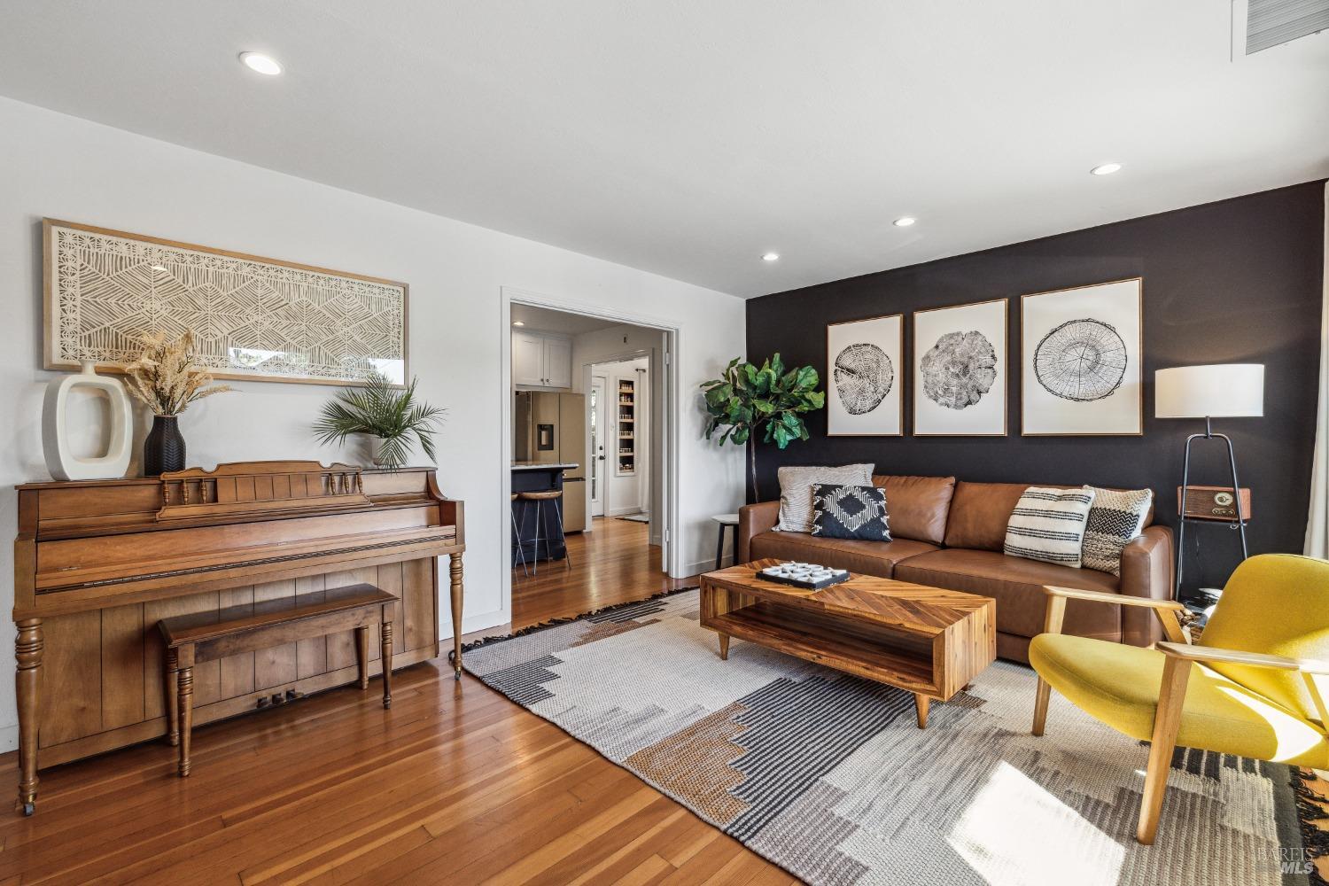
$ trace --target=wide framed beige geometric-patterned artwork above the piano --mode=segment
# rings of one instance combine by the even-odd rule
[[[218,379],[355,384],[407,375],[407,284],[43,221],[45,364],[114,371],[142,336],[194,332]]]

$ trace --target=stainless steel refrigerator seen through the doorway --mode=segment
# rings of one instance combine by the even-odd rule
[[[577,465],[563,472],[563,531],[586,529],[586,397],[518,391],[513,412],[517,461]]]

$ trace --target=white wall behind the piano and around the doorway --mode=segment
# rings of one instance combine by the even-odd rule
[[[262,138],[262,133],[255,133]],[[569,307],[650,306],[679,328],[679,489],[688,569],[706,562],[711,513],[742,497],[736,448],[702,440],[695,383],[743,353],[743,302],[619,264],[404,209],[108,126],[0,98],[0,575],[13,574],[13,485],[48,480],[41,456],[41,217],[356,271],[411,284],[411,372],[448,408],[439,484],[466,502],[462,628],[509,620],[500,553],[508,442],[501,413],[500,288],[542,292]],[[635,308],[634,308],[635,311]],[[322,385],[239,383],[190,409],[189,462],[358,458],[314,444],[308,426],[332,393]],[[140,429],[140,437],[144,429]],[[12,580],[4,599],[12,604]],[[447,607],[443,607],[447,608]],[[441,634],[451,636],[447,612]],[[0,749],[16,747],[12,632],[0,646]]]

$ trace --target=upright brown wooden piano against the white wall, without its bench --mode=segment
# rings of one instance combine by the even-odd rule
[[[404,667],[440,654],[441,554],[461,624],[464,550],[462,503],[439,491],[431,469],[259,461],[19,486],[19,808],[33,809],[39,758],[48,766],[166,733],[159,619],[290,608],[371,583],[397,596],[392,664]],[[231,656],[194,671],[194,721],[355,679],[350,632]]]

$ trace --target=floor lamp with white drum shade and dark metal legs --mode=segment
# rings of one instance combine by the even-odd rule
[[[1220,363],[1207,367],[1176,367],[1154,373],[1154,416],[1156,418],[1204,418],[1204,433],[1185,438],[1181,462],[1181,502],[1176,534],[1175,599],[1181,596],[1181,565],[1185,562],[1185,495],[1191,481],[1191,444],[1196,440],[1221,440],[1228,445],[1232,468],[1232,495],[1236,501],[1237,530],[1241,533],[1241,559],[1249,554],[1245,543],[1245,513],[1241,507],[1241,485],[1237,482],[1237,457],[1232,438],[1213,433],[1211,418],[1257,417],[1264,414],[1264,364]]]

